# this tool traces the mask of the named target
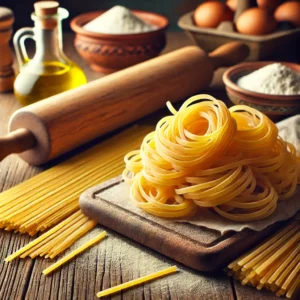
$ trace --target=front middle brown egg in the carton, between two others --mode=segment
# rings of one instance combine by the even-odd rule
[[[236,21],[236,29],[243,34],[264,35],[275,31],[277,23],[268,10],[253,7],[244,11]]]

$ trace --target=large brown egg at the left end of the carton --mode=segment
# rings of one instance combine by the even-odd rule
[[[216,28],[223,21],[231,21],[233,12],[218,1],[209,1],[200,4],[194,12],[195,24],[199,27]]]

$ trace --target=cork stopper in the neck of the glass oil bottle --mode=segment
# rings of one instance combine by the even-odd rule
[[[59,3],[56,1],[38,1],[34,3],[35,15],[39,18],[43,29],[53,29],[57,26]]]

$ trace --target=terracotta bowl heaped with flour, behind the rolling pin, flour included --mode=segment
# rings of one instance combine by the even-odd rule
[[[71,21],[74,44],[90,67],[113,73],[156,57],[166,45],[169,21],[152,12],[115,6]]]

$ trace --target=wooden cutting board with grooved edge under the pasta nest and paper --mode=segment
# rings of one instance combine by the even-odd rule
[[[85,215],[144,246],[199,271],[215,271],[275,232],[282,223],[261,232],[220,232],[149,216],[128,207],[129,188],[121,177],[84,192]]]

